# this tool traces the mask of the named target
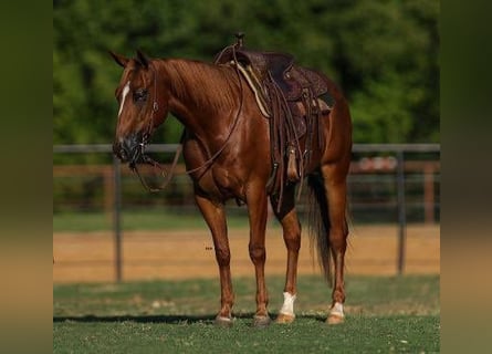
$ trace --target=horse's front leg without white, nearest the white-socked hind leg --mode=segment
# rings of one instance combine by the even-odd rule
[[[255,326],[269,325],[268,304],[269,295],[264,278],[265,229],[268,218],[268,198],[264,188],[250,188],[247,196],[248,211],[250,218],[250,258],[254,264],[257,275],[257,313],[254,314]]]

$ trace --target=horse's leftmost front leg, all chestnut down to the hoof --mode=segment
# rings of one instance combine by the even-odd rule
[[[219,266],[221,308],[216,317],[216,323],[219,325],[231,325],[234,293],[232,290],[231,253],[223,205],[217,205],[199,195],[195,195],[195,199],[212,233],[217,264]]]

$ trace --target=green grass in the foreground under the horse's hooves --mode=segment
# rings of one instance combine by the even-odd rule
[[[268,279],[272,317],[283,279]],[[439,277],[349,277],[346,322],[324,323],[329,290],[301,277],[291,325],[251,326],[254,280],[235,279],[234,325],[213,325],[218,280],[54,285],[54,353],[436,353]]]

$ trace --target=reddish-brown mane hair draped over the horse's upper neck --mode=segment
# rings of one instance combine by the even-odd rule
[[[192,96],[195,104],[203,110],[223,110],[238,105],[238,76],[233,71],[182,59],[168,59],[161,63],[177,97],[186,101]]]

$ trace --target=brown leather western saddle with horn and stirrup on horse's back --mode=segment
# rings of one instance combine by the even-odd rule
[[[324,76],[295,65],[291,54],[247,50],[244,34],[237,33],[235,38],[237,42],[223,49],[214,63],[233,66],[243,75],[261,113],[269,118],[273,169],[268,189],[279,198],[280,210],[285,180],[304,178],[316,132],[322,147],[320,118],[335,101]]]

